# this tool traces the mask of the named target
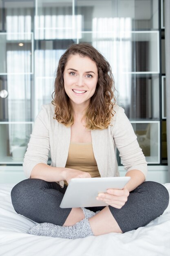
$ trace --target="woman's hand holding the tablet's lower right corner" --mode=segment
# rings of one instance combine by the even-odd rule
[[[128,200],[129,191],[125,186],[124,189],[108,189],[107,193],[99,193],[97,200],[101,200],[106,204],[121,209]]]

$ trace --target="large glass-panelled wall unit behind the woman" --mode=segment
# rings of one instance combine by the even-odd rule
[[[69,45],[88,42],[112,67],[118,104],[148,163],[159,164],[161,115],[166,119],[163,5],[164,0],[0,0],[0,162],[22,164],[23,155],[15,152],[28,142],[41,105],[52,100],[60,56]]]

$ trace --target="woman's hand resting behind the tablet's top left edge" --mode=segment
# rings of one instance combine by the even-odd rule
[[[91,178],[91,175],[89,173],[86,173],[84,171],[79,171],[76,169],[71,168],[64,168],[64,180],[66,180],[67,183],[70,182],[73,178]]]

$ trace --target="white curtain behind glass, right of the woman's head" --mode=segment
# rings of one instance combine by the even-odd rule
[[[117,101],[130,106],[132,67],[131,18],[93,18],[92,44],[108,60],[119,92]]]

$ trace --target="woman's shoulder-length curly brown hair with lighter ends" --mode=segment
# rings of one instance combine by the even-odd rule
[[[96,63],[98,71],[96,90],[84,116],[86,128],[88,130],[105,129],[110,125],[114,115],[115,84],[110,64],[97,49],[88,43],[71,45],[59,60],[52,94],[52,104],[55,106],[54,119],[67,127],[74,123],[71,103],[64,89],[64,68],[68,58],[75,54],[90,58]]]

